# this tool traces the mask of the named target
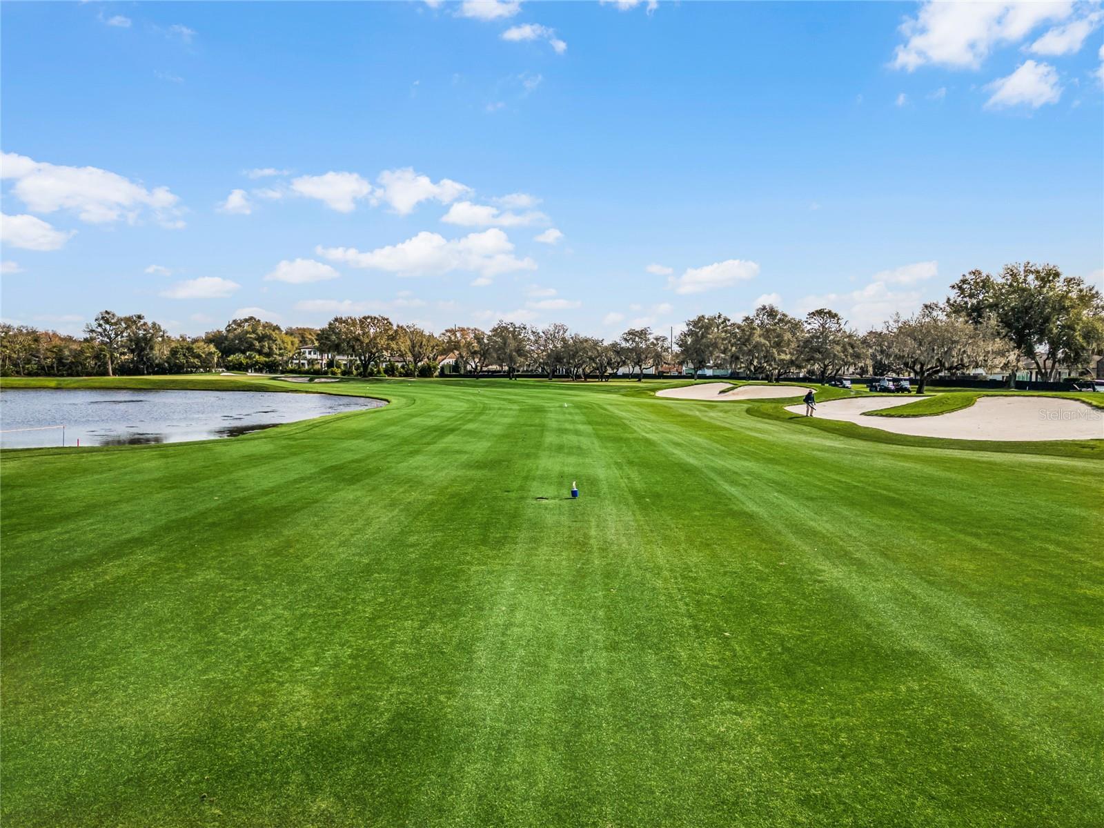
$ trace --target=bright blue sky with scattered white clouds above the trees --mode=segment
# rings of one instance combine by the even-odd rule
[[[2,316],[866,329],[1104,279],[1100,3],[31,3]]]

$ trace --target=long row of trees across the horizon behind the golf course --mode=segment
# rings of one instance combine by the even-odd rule
[[[192,373],[229,370],[284,371],[312,346],[308,372],[351,375],[431,376],[493,369],[548,378],[607,379],[622,367],[645,371],[688,365],[697,379],[705,368],[778,380],[807,375],[825,382],[843,372],[916,378],[970,369],[1015,379],[1021,361],[1042,379],[1060,367],[1087,372],[1104,351],[1104,299],[1084,280],[1051,265],[1007,265],[999,274],[965,274],[942,302],[910,317],[895,315],[866,333],[850,329],[830,308],[798,318],[764,305],[742,319],[724,314],[687,320],[670,342],[647,327],[614,341],[572,332],[554,322],[537,328],[499,320],[489,330],[455,326],[439,335],[395,325],[379,315],[339,316],[322,328],[287,327],[256,317],[234,319],[202,337],[171,337],[142,315],[105,310],[71,337],[28,326],[0,325],[0,371],[18,375]],[[450,368],[438,361],[452,357]]]

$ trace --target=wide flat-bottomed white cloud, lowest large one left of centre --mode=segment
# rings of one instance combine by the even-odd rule
[[[537,269],[537,263],[531,258],[518,258],[513,255],[513,244],[498,227],[452,241],[437,233],[422,231],[405,242],[368,253],[353,247],[318,246],[316,251],[332,262],[346,262],[353,267],[400,275],[442,275],[453,270],[474,270],[480,276],[491,277],[514,270]]]

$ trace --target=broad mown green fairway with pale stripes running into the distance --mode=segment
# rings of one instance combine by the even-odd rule
[[[1100,824],[1100,454],[662,386],[3,453],[0,821]]]

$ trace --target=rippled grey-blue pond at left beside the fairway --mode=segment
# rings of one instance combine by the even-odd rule
[[[181,443],[270,428],[382,400],[265,391],[0,391],[0,448]],[[55,426],[64,426],[63,428]],[[34,429],[34,431],[30,431]]]

